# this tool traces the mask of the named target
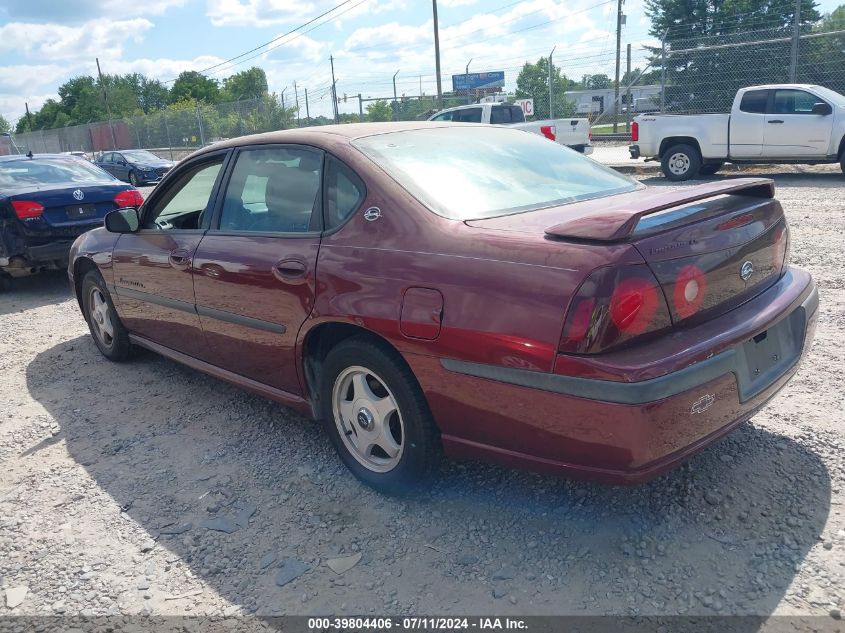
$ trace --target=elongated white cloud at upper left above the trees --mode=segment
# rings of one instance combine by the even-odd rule
[[[0,51],[56,62],[104,57],[117,59],[127,41],[140,42],[153,23],[144,18],[99,18],[81,27],[10,22],[0,26]]]

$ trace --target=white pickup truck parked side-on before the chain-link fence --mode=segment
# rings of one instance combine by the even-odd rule
[[[736,93],[730,114],[643,114],[631,158],[659,160],[669,180],[715,174],[726,162],[839,162],[845,171],[845,96],[822,86],[775,84]]]

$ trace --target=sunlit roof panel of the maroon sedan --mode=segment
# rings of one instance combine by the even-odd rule
[[[347,123],[341,125],[315,125],[312,127],[292,128],[263,134],[239,136],[213,143],[194,152],[191,156],[199,156],[208,152],[245,145],[263,145],[271,143],[316,143],[318,145],[333,145],[349,143],[359,138],[389,134],[391,132],[407,132],[409,130],[427,130],[444,127],[469,127],[478,129],[477,123],[452,123],[449,121],[397,121],[385,123]],[[494,126],[487,126],[494,127]]]

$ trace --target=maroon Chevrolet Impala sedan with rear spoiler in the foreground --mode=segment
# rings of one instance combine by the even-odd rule
[[[460,458],[639,482],[790,379],[818,294],[773,183],[646,188],[518,130],[329,126],[182,161],[76,240],[111,360],[323,420],[385,491]]]

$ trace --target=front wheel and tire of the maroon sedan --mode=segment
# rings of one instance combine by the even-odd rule
[[[129,333],[120,322],[103,276],[97,270],[88,271],[82,278],[82,314],[103,356],[115,362],[129,358],[132,352]]]

